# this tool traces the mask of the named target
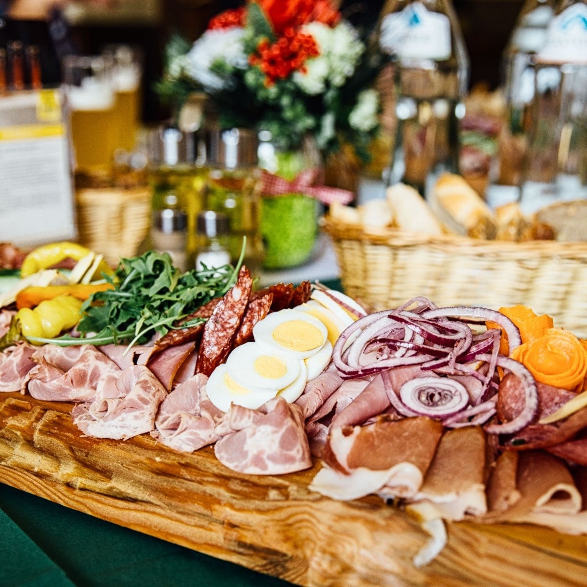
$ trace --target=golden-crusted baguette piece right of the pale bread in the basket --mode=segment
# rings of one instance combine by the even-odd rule
[[[491,208],[461,176],[443,173],[438,177],[429,203],[450,232],[483,239],[494,239],[497,235],[497,222]]]

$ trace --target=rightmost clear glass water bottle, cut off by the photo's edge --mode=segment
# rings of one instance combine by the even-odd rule
[[[561,0],[533,58],[534,97],[520,204],[527,212],[587,198],[587,0]]]

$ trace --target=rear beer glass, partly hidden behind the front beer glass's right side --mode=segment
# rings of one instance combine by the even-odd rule
[[[132,151],[140,122],[140,87],[143,75],[141,55],[130,45],[107,45],[103,55],[113,62],[114,117],[117,149]]]

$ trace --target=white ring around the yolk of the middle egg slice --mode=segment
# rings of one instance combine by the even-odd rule
[[[255,368],[259,361],[276,362],[279,367],[285,369],[281,377],[269,377],[268,374],[262,373]],[[226,362],[227,373],[230,377],[243,387],[248,389],[266,389],[278,392],[292,383],[299,375],[300,362],[297,359],[288,359],[284,355],[279,355],[266,346],[259,345],[257,342],[247,342],[244,345],[237,346]]]

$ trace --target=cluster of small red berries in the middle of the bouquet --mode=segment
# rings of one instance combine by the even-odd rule
[[[276,79],[285,79],[295,70],[305,71],[304,63],[309,57],[320,54],[312,35],[285,29],[284,36],[273,44],[267,39],[257,46],[258,55],[249,56],[251,65],[258,65],[265,74],[265,85],[271,86]]]

